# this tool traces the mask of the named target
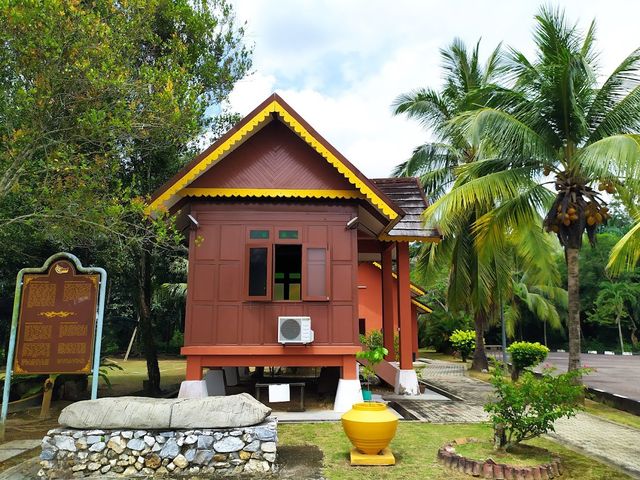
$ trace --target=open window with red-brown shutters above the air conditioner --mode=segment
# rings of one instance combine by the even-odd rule
[[[297,235],[297,231],[296,235]],[[329,300],[326,246],[255,244],[247,247],[247,300]]]

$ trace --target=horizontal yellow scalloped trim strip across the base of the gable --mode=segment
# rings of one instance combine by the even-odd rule
[[[278,188],[183,188],[182,197],[286,197],[286,198],[364,198],[357,190],[308,190]]]

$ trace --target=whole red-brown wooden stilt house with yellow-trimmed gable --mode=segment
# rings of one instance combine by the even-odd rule
[[[335,408],[349,409],[362,398],[358,265],[376,261],[391,355],[394,322],[400,334],[395,384],[416,393],[409,242],[440,239],[422,224],[425,207],[415,179],[366,178],[282,98],[267,98],[148,206],[190,225],[187,381],[212,367],[337,366]],[[310,319],[312,341],[279,341],[290,317]]]

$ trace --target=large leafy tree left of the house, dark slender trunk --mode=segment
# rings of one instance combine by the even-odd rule
[[[154,263],[180,252],[180,235],[144,202],[235,120],[223,102],[251,65],[244,31],[226,0],[16,1],[0,19],[0,231],[20,223],[109,252],[157,393]]]

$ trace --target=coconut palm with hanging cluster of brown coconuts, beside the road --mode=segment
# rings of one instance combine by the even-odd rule
[[[474,224],[480,244],[483,232],[515,230],[545,212],[567,262],[570,370],[580,366],[578,253],[583,234],[595,241],[609,216],[597,190],[613,194],[640,173],[640,49],[599,85],[594,41],[595,23],[581,32],[562,11],[540,10],[536,56],[510,50],[513,86],[496,92],[498,106],[451,122],[478,146],[479,160],[460,167],[454,188],[430,207],[446,218],[492,204]]]

